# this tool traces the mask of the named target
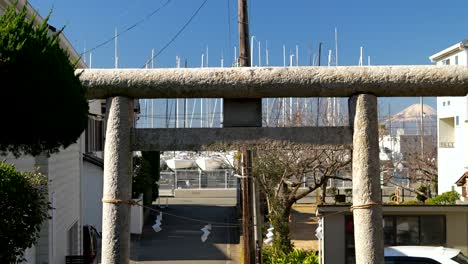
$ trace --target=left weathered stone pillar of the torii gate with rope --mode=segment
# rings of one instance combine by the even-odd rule
[[[130,205],[119,201],[131,199],[133,99],[113,97],[108,102],[103,192],[103,200],[108,202],[102,206],[102,263],[127,264],[130,257]]]

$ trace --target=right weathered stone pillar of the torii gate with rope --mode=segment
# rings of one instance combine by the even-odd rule
[[[353,216],[356,263],[384,263],[377,97],[350,98],[353,135]],[[350,111],[353,112],[352,109]],[[350,120],[351,121],[351,120]]]

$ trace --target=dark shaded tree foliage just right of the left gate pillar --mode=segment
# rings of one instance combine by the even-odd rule
[[[143,205],[150,206],[159,196],[159,151],[142,151],[134,159],[133,198],[143,193]]]

